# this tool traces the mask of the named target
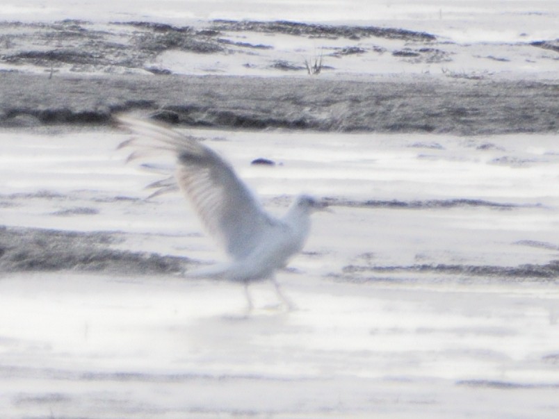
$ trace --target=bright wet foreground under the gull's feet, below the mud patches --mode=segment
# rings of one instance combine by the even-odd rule
[[[300,310],[246,319],[232,314],[241,293],[229,284],[4,279],[3,416],[553,418],[558,408],[554,286],[282,279]]]

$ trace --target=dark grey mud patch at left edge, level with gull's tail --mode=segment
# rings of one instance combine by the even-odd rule
[[[192,261],[111,248],[118,233],[0,227],[0,272],[74,270],[118,274],[180,274]]]

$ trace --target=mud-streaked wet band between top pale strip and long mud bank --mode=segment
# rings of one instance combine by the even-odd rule
[[[141,19],[141,17],[136,17]],[[555,19],[559,17],[556,15]],[[323,76],[428,74],[556,79],[558,31],[455,40],[429,27],[300,22],[0,22],[0,69],[56,74]],[[543,23],[543,22],[542,22]],[[316,71],[316,70],[314,70]]]

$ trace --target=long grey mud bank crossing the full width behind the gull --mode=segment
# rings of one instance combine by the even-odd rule
[[[115,113],[170,111],[220,129],[546,133],[559,130],[554,83],[350,81],[229,76],[0,74],[0,126],[108,124]],[[22,126],[27,126],[26,123]]]

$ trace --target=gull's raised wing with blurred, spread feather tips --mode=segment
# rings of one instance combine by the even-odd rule
[[[124,116],[118,117],[118,121],[138,136],[127,145],[138,141],[143,147],[176,154],[176,176],[181,190],[209,233],[234,258],[250,254],[277,224],[238,179],[231,165],[215,151],[160,124]]]

